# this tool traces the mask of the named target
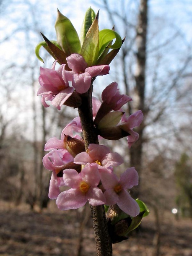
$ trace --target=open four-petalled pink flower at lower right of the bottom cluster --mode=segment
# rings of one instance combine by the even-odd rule
[[[127,189],[138,185],[138,173],[134,167],[128,168],[122,173],[120,179],[113,172],[104,169],[100,172],[100,178],[104,189],[106,189],[104,192],[105,204],[117,204],[123,212],[133,217],[139,214],[138,203],[127,192]]]

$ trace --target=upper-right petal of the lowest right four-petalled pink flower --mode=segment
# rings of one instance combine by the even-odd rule
[[[128,168],[125,172],[120,176],[119,183],[123,188],[132,188],[139,183],[138,172],[135,170],[135,167]]]

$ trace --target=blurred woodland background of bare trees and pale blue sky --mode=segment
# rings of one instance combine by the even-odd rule
[[[125,138],[107,142],[125,159],[119,172],[130,166],[138,170],[140,185],[132,193],[145,201],[151,212],[146,224],[143,220],[144,233],[141,227],[140,242],[133,234],[136,247],[130,241],[124,241],[121,248],[117,247],[116,250],[115,247],[114,255],[190,256],[191,0],[87,0],[86,3],[83,0],[52,0],[49,3],[46,0],[0,0],[0,243],[3,245],[0,255],[75,255],[75,249],[71,247],[72,238],[74,244],[81,245],[83,241],[83,229],[79,230],[83,227],[81,224],[88,221],[83,222],[83,214],[82,219],[77,219],[74,211],[59,212],[54,202],[49,201],[47,195],[51,173],[42,165],[46,141],[53,136],[60,138],[62,129],[78,113],[65,106],[60,111],[52,106],[46,109],[42,107],[41,97],[36,96],[39,68],[51,68],[53,59],[42,49],[40,55],[45,64],[41,63],[34,49],[36,44],[43,41],[40,32],[49,40],[56,40],[54,23],[57,8],[70,18],[79,33],[84,14],[90,6],[95,12],[100,10],[99,29],[111,29],[115,25],[121,37],[126,37],[110,65],[110,74],[94,82],[94,96],[100,97],[108,84],[117,81],[121,93],[133,99],[125,106],[125,111],[129,115],[137,110],[144,113],[144,121],[138,128],[140,139],[131,149],[127,149]],[[67,234],[71,234],[66,238],[68,242],[62,243],[65,232],[65,235],[60,234],[62,238],[57,237],[57,245],[54,241],[54,246],[49,250],[48,245],[44,245],[43,249],[43,246],[39,246],[46,243],[42,237],[46,232],[52,238],[56,236],[55,233],[61,232],[58,227],[54,233],[52,225],[61,223],[63,216],[65,223],[62,225],[68,228]],[[16,228],[16,224],[21,224],[21,219],[25,219],[24,231],[21,225]],[[41,243],[31,244],[32,252],[26,251],[32,239],[31,236],[30,239],[26,238],[26,234],[36,229],[29,227],[30,231],[26,231],[24,227],[29,223],[39,223],[39,228],[41,223],[44,223],[44,227],[52,227],[52,232],[44,230],[45,234],[37,239]],[[170,231],[169,225],[174,230]],[[88,227],[87,224],[84,229]],[[174,235],[180,233],[180,236],[183,232],[182,237],[176,237],[174,242],[170,241],[167,247],[163,247],[166,240],[162,241],[165,237],[167,239],[166,235],[170,239],[174,237],[172,232]],[[89,231],[86,231],[88,234]],[[93,239],[93,235],[89,234],[89,237]],[[146,240],[142,240],[144,238]],[[83,248],[88,248],[86,239],[82,242]],[[142,241],[144,247],[141,248],[138,243]],[[92,242],[94,244],[94,239]],[[26,247],[22,247],[22,243]],[[62,246],[59,246],[61,243]],[[70,246],[65,251],[67,245]],[[85,254],[80,247],[77,249],[81,253],[79,256],[94,255],[94,246],[93,251],[89,248]],[[148,248],[151,250],[148,251]],[[172,251],[167,252],[166,248]]]

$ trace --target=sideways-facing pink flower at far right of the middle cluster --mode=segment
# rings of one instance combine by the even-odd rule
[[[141,110],[138,110],[137,112],[130,115],[129,117],[126,117],[126,115],[124,114],[122,116],[121,123],[117,125],[123,131],[126,131],[127,133],[130,134],[129,136],[127,136],[127,142],[128,142],[129,148],[139,138],[139,134],[133,131],[133,128],[138,127],[142,121],[143,121],[143,113]]]

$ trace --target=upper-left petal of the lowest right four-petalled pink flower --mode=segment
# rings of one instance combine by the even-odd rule
[[[109,171],[109,169],[103,168],[100,170],[99,174],[101,178],[101,183],[105,189],[113,189],[119,182],[117,176],[113,172],[111,172],[111,170]]]

